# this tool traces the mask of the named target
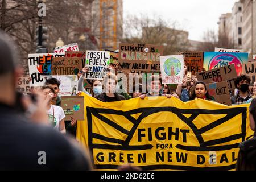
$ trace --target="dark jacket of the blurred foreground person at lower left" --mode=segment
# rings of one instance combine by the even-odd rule
[[[0,115],[0,170],[90,169],[84,151],[59,131],[32,123],[24,113],[1,103]]]

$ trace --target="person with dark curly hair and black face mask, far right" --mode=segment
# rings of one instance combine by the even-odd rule
[[[238,93],[230,97],[232,104],[245,104],[251,98],[249,93],[250,82],[251,78],[247,75],[240,75],[234,80]]]

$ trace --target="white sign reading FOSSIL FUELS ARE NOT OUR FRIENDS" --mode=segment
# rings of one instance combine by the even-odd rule
[[[86,79],[102,80],[109,72],[110,53],[108,51],[86,51],[86,67],[89,71],[85,73]]]

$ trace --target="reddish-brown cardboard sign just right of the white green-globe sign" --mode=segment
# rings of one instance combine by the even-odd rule
[[[184,63],[188,67],[188,72],[196,75],[196,72],[201,72],[204,65],[203,51],[184,51],[181,52],[184,56]]]

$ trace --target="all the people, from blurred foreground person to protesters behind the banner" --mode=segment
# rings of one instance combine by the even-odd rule
[[[76,137],[77,119],[65,119],[61,98],[58,96],[61,82],[56,78],[49,78],[40,90],[30,96],[16,92],[15,82],[22,72],[19,64],[15,62],[18,58],[15,57],[14,45],[9,40],[7,35],[0,32],[0,84],[5,85],[0,87],[0,169],[92,169],[84,149],[77,146],[75,139],[67,137]],[[103,80],[93,80],[90,92],[87,92],[83,85],[88,68],[84,67],[79,72],[76,94],[84,92],[102,102],[138,97],[143,100],[154,96],[163,96],[166,99],[176,97],[183,102],[197,98],[214,102],[205,83],[188,75],[185,66],[182,84],[176,90],[162,84],[160,75],[152,75],[148,78],[147,85],[134,83],[133,92],[130,94],[118,92],[119,80],[115,69],[119,68],[113,66],[114,72],[107,73]],[[240,75],[234,82],[236,90],[230,96],[232,104],[251,102],[250,126],[255,130],[256,82],[251,89],[249,76]],[[146,93],[143,93],[143,86],[147,87]],[[38,152],[41,150],[47,151],[49,160],[46,166],[38,164]]]

